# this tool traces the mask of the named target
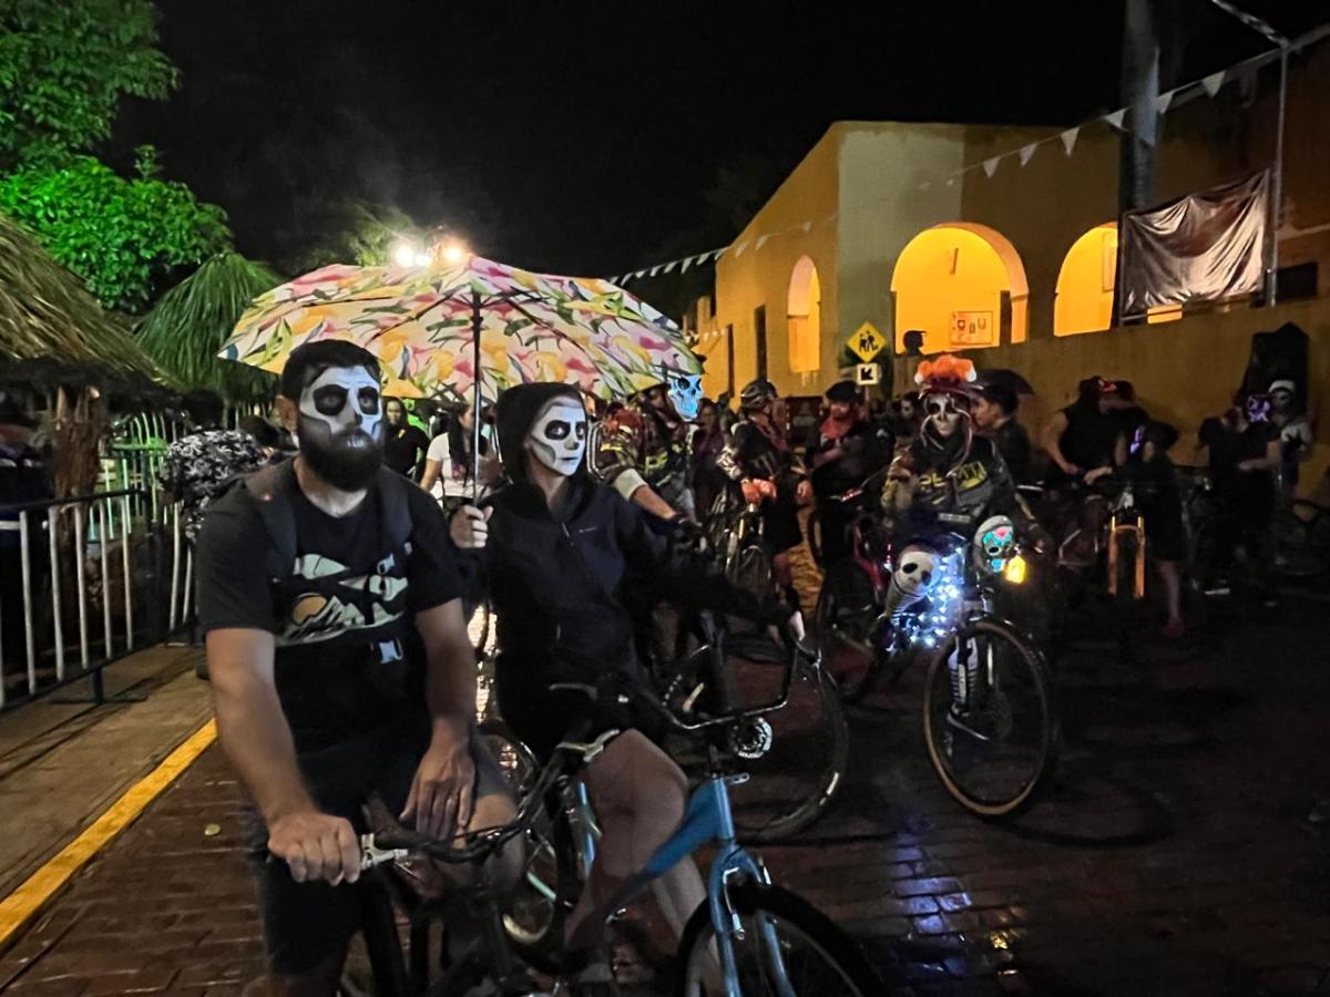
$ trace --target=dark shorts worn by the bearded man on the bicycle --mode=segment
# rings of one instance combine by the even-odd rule
[[[402,812],[428,740],[427,724],[379,730],[303,755],[301,772],[325,812],[346,818],[356,833],[363,833],[368,828],[362,806],[371,795],[378,794],[392,814]],[[476,763],[476,796],[504,792],[503,774],[479,738],[472,740],[471,755]],[[366,884],[297,883],[290,867],[267,853],[267,828],[258,815],[253,819],[250,857],[258,877],[269,972],[298,976],[340,957],[360,928]]]

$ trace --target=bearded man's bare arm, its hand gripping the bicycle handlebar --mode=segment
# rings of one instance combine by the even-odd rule
[[[291,728],[273,678],[273,634],[222,629],[207,634],[207,674],[222,750],[249,787],[269,830],[269,851],[297,883],[360,876],[351,824],[319,811],[295,764]]]

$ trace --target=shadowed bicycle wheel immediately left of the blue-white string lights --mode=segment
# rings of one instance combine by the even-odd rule
[[[882,671],[882,651],[872,645],[879,615],[867,573],[854,561],[833,566],[818,592],[814,627],[822,667],[846,702],[867,695]]]

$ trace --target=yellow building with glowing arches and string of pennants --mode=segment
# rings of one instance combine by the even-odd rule
[[[1181,96],[1161,118],[1160,201],[1273,160],[1274,77]],[[1330,291],[1330,45],[1294,60],[1283,213],[1285,299]],[[849,372],[863,323],[903,352],[980,350],[1103,331],[1117,259],[1119,136],[1087,125],[1071,153],[1060,129],[854,122],[833,125],[717,262],[714,298],[689,324],[709,395],[767,376],[813,395]],[[1040,140],[1024,165],[968,169]],[[1152,316],[1152,322],[1178,318]],[[1112,335],[1112,334],[1109,334]],[[1008,355],[1005,359],[1011,360]],[[1117,376],[1130,376],[1128,371]]]

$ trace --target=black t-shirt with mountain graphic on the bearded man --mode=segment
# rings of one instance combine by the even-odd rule
[[[424,714],[424,649],[415,613],[458,598],[462,584],[443,512],[407,489],[411,537],[384,550],[382,500],[340,518],[291,489],[297,558],[270,574],[273,540],[254,498],[231,489],[209,510],[198,549],[203,630],[277,637],[275,677],[298,752]]]

